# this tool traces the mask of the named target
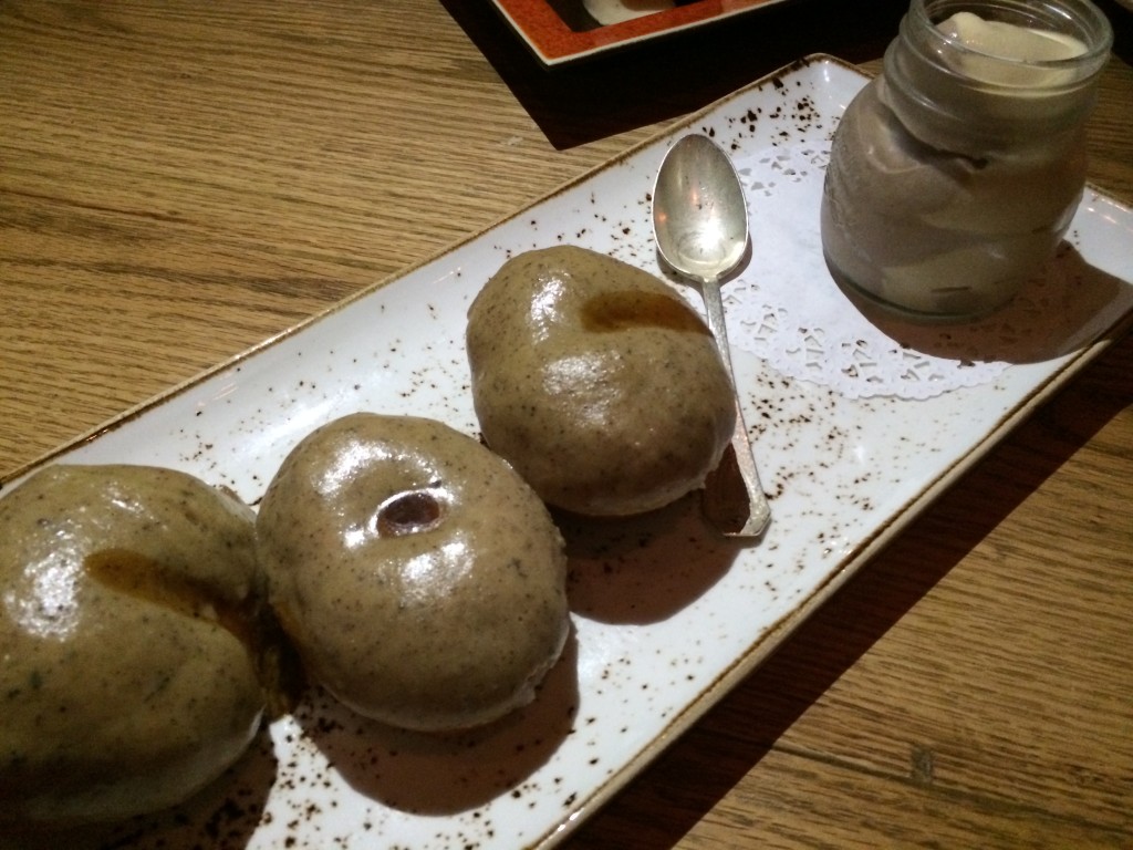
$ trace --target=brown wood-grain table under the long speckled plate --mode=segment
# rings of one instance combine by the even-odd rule
[[[487,0],[0,0],[0,474],[791,59],[876,70],[903,8],[547,73]],[[568,845],[1133,847],[1131,399],[1125,338]]]

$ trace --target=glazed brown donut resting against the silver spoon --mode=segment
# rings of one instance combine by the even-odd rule
[[[512,257],[466,333],[485,442],[550,504],[661,508],[704,484],[735,423],[707,325],[671,287],[603,254]]]

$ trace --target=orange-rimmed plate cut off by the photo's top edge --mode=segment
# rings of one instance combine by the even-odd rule
[[[696,0],[651,15],[599,25],[582,0],[492,0],[546,66],[564,65],[637,42],[691,29],[784,0]]]

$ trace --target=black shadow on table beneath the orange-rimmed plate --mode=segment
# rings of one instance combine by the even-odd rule
[[[809,53],[881,56],[908,0],[807,0],[546,68],[487,0],[441,0],[559,150],[685,114]]]

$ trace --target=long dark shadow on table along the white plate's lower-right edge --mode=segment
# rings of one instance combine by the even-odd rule
[[[1131,358],[1133,334],[1126,334],[582,826],[571,850],[676,844],[956,563],[1127,407]]]

